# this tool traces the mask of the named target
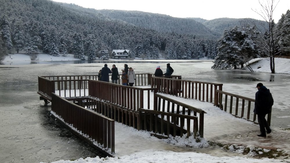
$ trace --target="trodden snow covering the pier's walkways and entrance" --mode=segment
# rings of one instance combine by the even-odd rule
[[[142,88],[147,87],[150,86],[142,86]],[[68,95],[69,92],[68,90],[66,91],[66,94]],[[81,90],[81,92],[84,91]],[[81,93],[81,96],[88,96],[88,90],[85,90],[85,92],[86,94]],[[59,91],[56,91],[56,94],[58,93]],[[150,108],[152,109],[153,92],[150,91],[150,93],[152,94],[150,95]],[[77,96],[79,95],[79,90],[76,91],[76,94]],[[61,91],[61,95],[64,95],[64,91]],[[175,149],[175,151],[189,151],[186,146],[204,146],[207,140],[221,143],[243,144],[246,146],[274,147],[290,151],[290,140],[287,139],[289,131],[283,131],[280,129],[275,130],[272,128],[272,133],[267,134],[267,138],[261,138],[257,136],[257,134],[260,134],[259,125],[241,118],[236,118],[231,114],[220,110],[218,107],[213,106],[213,103],[202,102],[195,99],[185,99],[167,94],[162,95],[202,109],[206,112],[206,114],[204,114],[204,139],[202,142],[196,143],[194,142],[195,140],[191,140],[193,139],[191,137],[188,139],[175,138],[160,141],[159,139],[150,136],[150,132],[138,131],[133,127],[128,127],[122,123],[115,122],[115,156],[130,155],[152,148],[155,151],[169,149]],[[74,92],[71,92],[71,96],[75,96]],[[147,91],[144,91],[144,97],[144,106],[147,106]],[[193,132],[192,129],[191,132]],[[176,148],[176,145],[178,148]]]

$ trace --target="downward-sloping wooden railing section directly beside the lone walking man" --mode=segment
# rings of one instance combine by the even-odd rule
[[[217,90],[219,94],[218,107],[235,117],[243,118],[258,124],[256,121],[256,114],[251,114],[254,110],[255,99],[248,98],[236,94],[231,94],[225,91]],[[224,97],[223,97],[224,95]],[[234,99],[235,98],[235,99]],[[241,100],[240,100],[241,99]],[[246,118],[245,118],[246,114]],[[271,124],[271,113],[267,114],[267,122]]]

